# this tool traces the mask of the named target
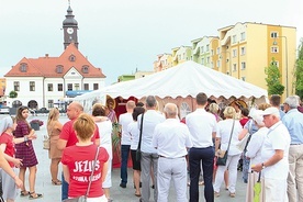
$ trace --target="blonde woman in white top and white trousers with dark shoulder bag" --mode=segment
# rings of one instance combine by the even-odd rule
[[[227,153],[227,161],[225,166],[217,166],[217,171],[214,182],[214,195],[220,197],[220,188],[224,179],[224,171],[228,169],[228,191],[229,197],[236,195],[236,182],[237,182],[237,165],[240,157],[240,150],[237,148],[238,134],[242,131],[242,125],[238,120],[235,120],[236,111],[233,106],[227,106],[224,110],[224,121],[217,123],[217,132],[215,139],[215,150],[227,150],[229,138],[231,145]],[[232,136],[231,136],[232,135]]]

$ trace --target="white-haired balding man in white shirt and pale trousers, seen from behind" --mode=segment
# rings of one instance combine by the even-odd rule
[[[192,146],[190,132],[178,119],[178,108],[173,103],[165,105],[166,121],[154,132],[153,146],[158,149],[158,202],[167,202],[170,179],[175,183],[177,202],[187,199],[187,148]]]

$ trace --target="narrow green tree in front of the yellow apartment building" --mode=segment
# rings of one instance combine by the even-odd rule
[[[283,94],[285,87],[280,82],[281,74],[274,58],[272,58],[269,67],[265,68],[265,74],[267,75],[268,94]]]

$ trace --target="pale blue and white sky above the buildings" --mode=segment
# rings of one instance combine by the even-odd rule
[[[157,55],[191,46],[237,22],[296,27],[303,37],[302,0],[70,0],[79,50],[111,85],[120,75],[153,70]],[[68,0],[0,0],[0,78],[23,57],[64,52]]]

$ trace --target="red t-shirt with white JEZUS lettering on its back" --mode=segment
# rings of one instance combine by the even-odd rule
[[[93,167],[93,160],[97,152],[97,145],[89,146],[70,146],[63,152],[61,162],[69,169],[68,197],[75,198],[86,194],[89,178]],[[89,198],[103,195],[101,173],[104,162],[109,159],[105,148],[100,147],[96,170],[92,177],[92,183],[89,191]]]

